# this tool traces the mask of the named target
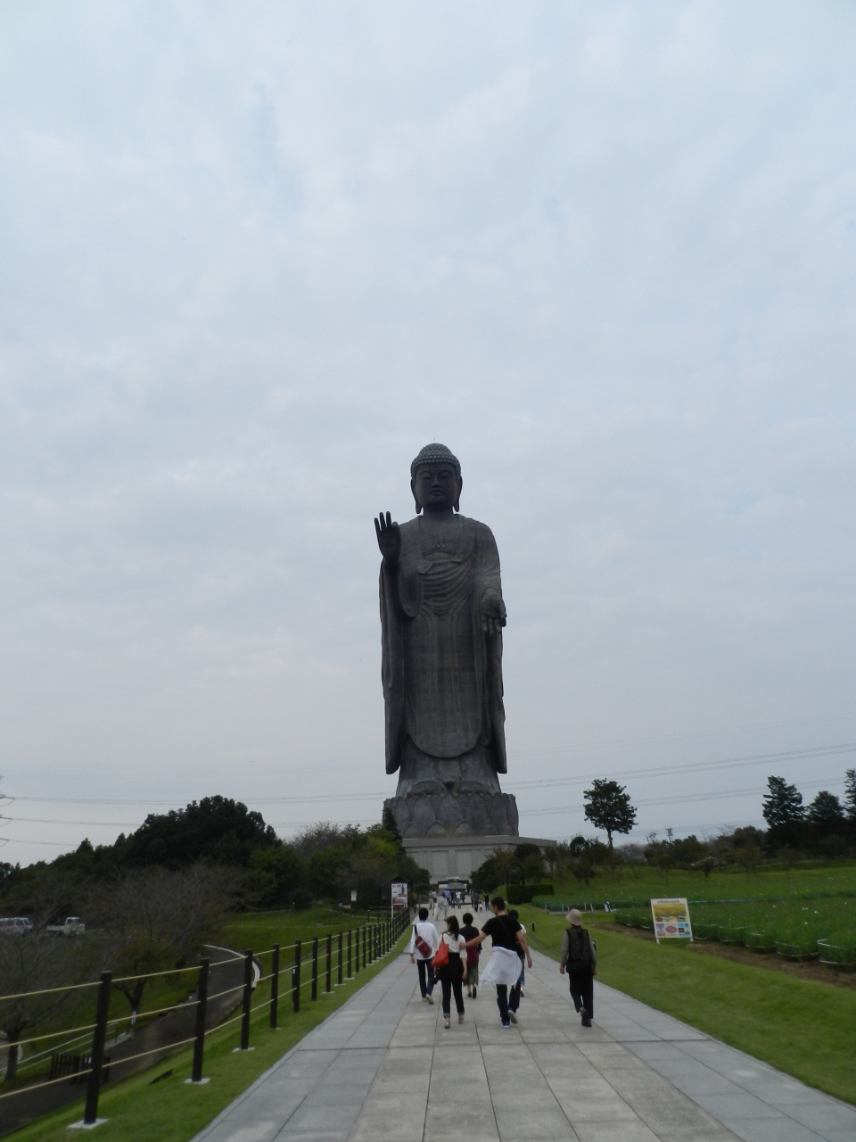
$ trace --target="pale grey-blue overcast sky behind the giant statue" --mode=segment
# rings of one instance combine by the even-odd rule
[[[596,774],[636,841],[840,793],[855,57],[848,2],[5,3],[0,860],[378,820],[372,515],[433,440],[522,834]]]

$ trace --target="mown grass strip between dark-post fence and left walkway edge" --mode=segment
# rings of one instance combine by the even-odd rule
[[[298,915],[306,916],[306,914]],[[291,916],[293,917],[293,914]],[[249,920],[250,917],[237,919]],[[245,933],[247,928],[243,931]],[[324,931],[330,928],[325,927]],[[398,949],[405,947],[409,935],[410,933],[405,932],[396,946]],[[281,942],[290,943],[292,939],[293,936],[282,938]],[[267,947],[269,944],[264,944],[264,948]],[[313,1027],[326,1019],[360,987],[382,971],[391,958],[386,956],[368,968],[361,968],[355,980],[334,988],[330,995],[321,992],[317,1003],[313,1004],[308,998],[308,988],[304,989],[301,1010],[297,1015],[288,1006],[290,997],[281,996],[281,1028],[276,1031],[272,1031],[268,1027],[268,1008],[265,1000],[269,997],[269,990],[268,986],[263,983],[253,997],[253,1005],[264,1004],[253,1015],[250,1030],[250,1045],[255,1051],[234,1053],[240,1038],[240,1023],[233,1023],[223,1031],[210,1032],[207,1037],[204,1073],[210,1076],[211,1081],[204,1086],[185,1084],[193,1060],[192,1049],[186,1048],[169,1059],[162,1059],[150,1071],[126,1083],[114,1087],[107,1085],[98,1105],[99,1117],[107,1118],[107,1123],[98,1127],[99,1142],[187,1142]],[[281,986],[284,986],[284,981]],[[152,1078],[170,1069],[172,1075],[169,1078],[162,1079],[154,1086],[150,1085]],[[68,1124],[79,1120],[82,1115],[81,1101],[27,1126],[14,1137],[16,1142],[35,1142],[35,1140],[68,1142]]]

